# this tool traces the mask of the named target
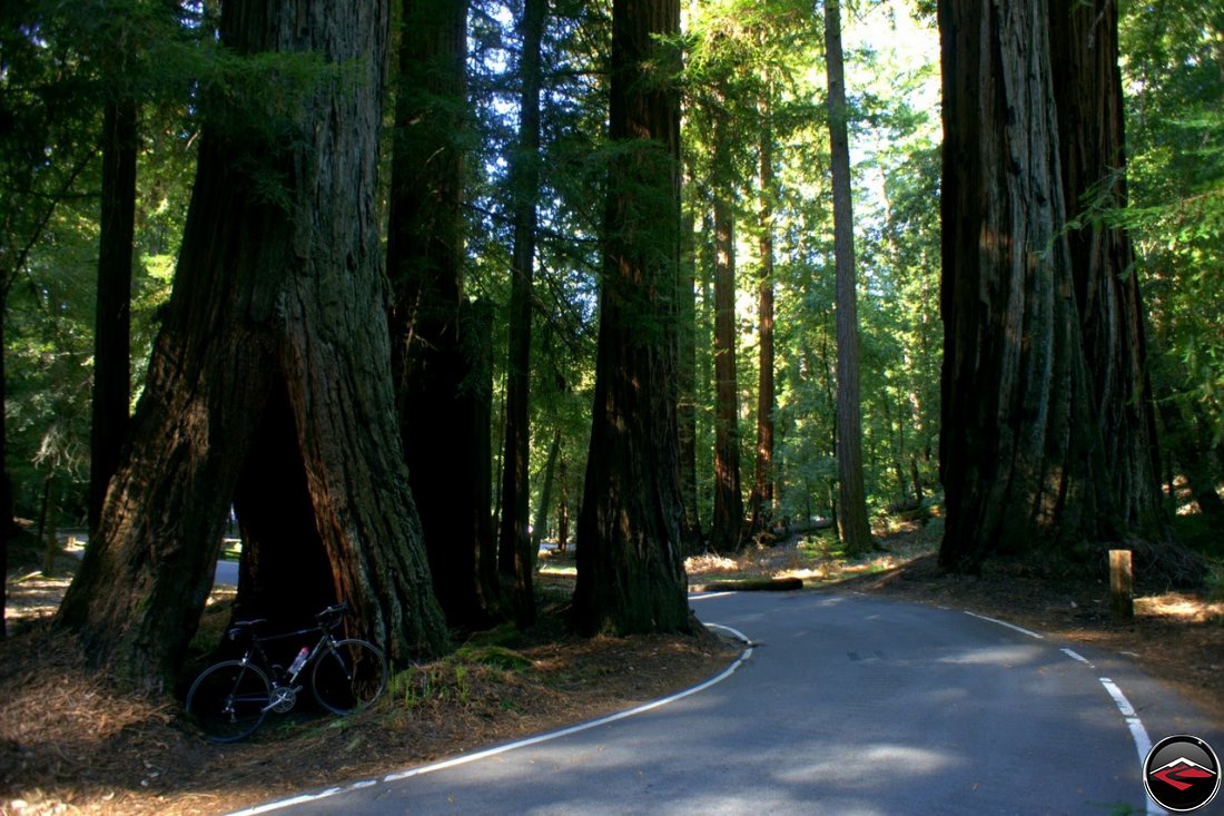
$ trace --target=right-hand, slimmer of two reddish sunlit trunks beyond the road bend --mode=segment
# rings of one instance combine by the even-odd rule
[[[760,336],[756,388],[756,468],[753,479],[753,534],[769,529],[774,518],[774,135],[769,125],[760,143],[760,255],[756,282],[756,323]]]

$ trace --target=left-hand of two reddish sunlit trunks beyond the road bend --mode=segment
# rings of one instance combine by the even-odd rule
[[[736,238],[726,195],[714,200],[714,518],[710,549],[734,553],[744,529],[736,374]]]

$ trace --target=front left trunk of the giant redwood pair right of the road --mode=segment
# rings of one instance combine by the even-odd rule
[[[1044,0],[944,0],[940,562],[1116,535],[1084,363]]]

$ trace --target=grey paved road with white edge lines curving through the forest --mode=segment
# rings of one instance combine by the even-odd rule
[[[1218,723],[1125,659],[963,611],[808,592],[694,606],[753,642],[703,691],[269,810],[1157,814],[1141,782],[1147,740],[1191,733],[1224,747]]]

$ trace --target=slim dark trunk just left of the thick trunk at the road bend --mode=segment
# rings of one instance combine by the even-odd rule
[[[531,573],[535,557],[528,531],[531,424],[531,274],[535,267],[536,200],[540,195],[540,40],[547,0],[524,0],[520,31],[519,146],[510,158],[514,251],[510,263],[509,353],[506,366],[506,456],[502,470],[499,546],[514,553],[515,618],[535,621]]]

